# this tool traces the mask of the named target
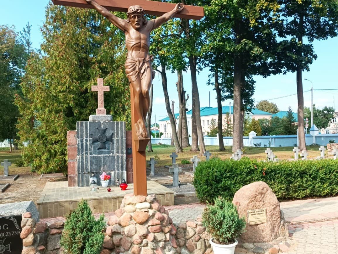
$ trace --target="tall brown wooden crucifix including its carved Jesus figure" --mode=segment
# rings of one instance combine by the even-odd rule
[[[203,8],[149,0],[52,0],[52,2],[65,6],[95,8],[125,34],[128,50],[125,71],[130,83],[131,100],[134,194],[146,196],[145,150],[150,139],[145,119],[150,103],[149,88],[154,76],[151,67],[152,56],[149,55],[150,32],[172,17],[201,19],[204,16]],[[134,5],[136,3],[143,7]],[[109,10],[127,12],[127,19],[120,19]],[[148,14],[162,16],[146,20],[144,17],[146,11]]]

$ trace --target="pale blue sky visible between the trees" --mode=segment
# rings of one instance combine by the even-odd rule
[[[45,9],[48,0],[16,0],[16,1],[2,1],[0,9],[0,25],[14,25],[17,31],[21,31],[29,22],[31,27],[31,39],[33,47],[39,48],[43,41],[40,33],[40,27],[45,20]],[[332,106],[338,108],[338,90],[317,91],[316,89],[337,89],[337,69],[338,69],[338,38],[330,38],[324,41],[315,41],[313,43],[315,53],[318,58],[310,66],[309,72],[303,72],[303,78],[312,81],[313,103],[316,107],[322,108],[324,106]],[[187,93],[191,95],[191,80],[190,73],[184,74],[184,86]],[[207,86],[208,70],[203,70],[198,78],[198,89],[200,96],[200,105],[209,106],[209,91],[210,91],[210,106],[216,107],[216,92],[212,87]],[[175,83],[177,76],[175,73],[167,72],[168,78],[168,93],[169,99],[175,101],[175,112],[178,112],[178,97]],[[291,106],[293,111],[297,110],[297,96],[288,96],[295,94],[296,90],[296,74],[288,73],[287,75],[276,75],[268,78],[255,77],[256,91],[254,99],[258,102],[260,100],[269,100],[277,104],[280,110],[287,110]],[[153,114],[152,122],[155,122],[167,115],[161,77],[156,74],[153,80],[154,96],[153,96]],[[311,82],[303,80],[304,91],[311,89]],[[285,97],[288,96],[288,97]],[[280,99],[274,99],[284,97]],[[274,99],[274,100],[270,100]],[[223,102],[223,105],[229,105],[230,101]],[[231,102],[232,103],[232,102]],[[191,109],[191,99],[187,102],[189,109]],[[304,106],[310,107],[311,92],[304,93]],[[337,110],[336,110],[337,111]]]

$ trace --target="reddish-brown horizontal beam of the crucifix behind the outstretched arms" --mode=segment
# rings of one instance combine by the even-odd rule
[[[81,8],[93,8],[92,5],[87,4],[84,0],[52,0],[53,4],[81,7]],[[170,12],[174,7],[175,3],[164,3],[149,0],[96,0],[96,2],[105,7],[106,9],[113,12],[127,12],[129,6],[140,5],[149,15],[162,16],[163,14]],[[174,15],[175,18],[183,19],[201,19],[204,16],[203,7],[184,5],[184,9]]]

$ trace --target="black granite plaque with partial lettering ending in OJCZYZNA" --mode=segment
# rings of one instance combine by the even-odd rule
[[[0,253],[21,254],[21,215],[0,217]]]

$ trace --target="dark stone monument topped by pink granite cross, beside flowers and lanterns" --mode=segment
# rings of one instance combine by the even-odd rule
[[[101,184],[102,172],[111,176],[108,185],[126,179],[126,130],[124,122],[112,121],[103,102],[103,79],[97,80],[93,91],[98,91],[96,115],[89,121],[76,122],[76,131],[68,131],[68,186],[90,186],[92,174]]]

